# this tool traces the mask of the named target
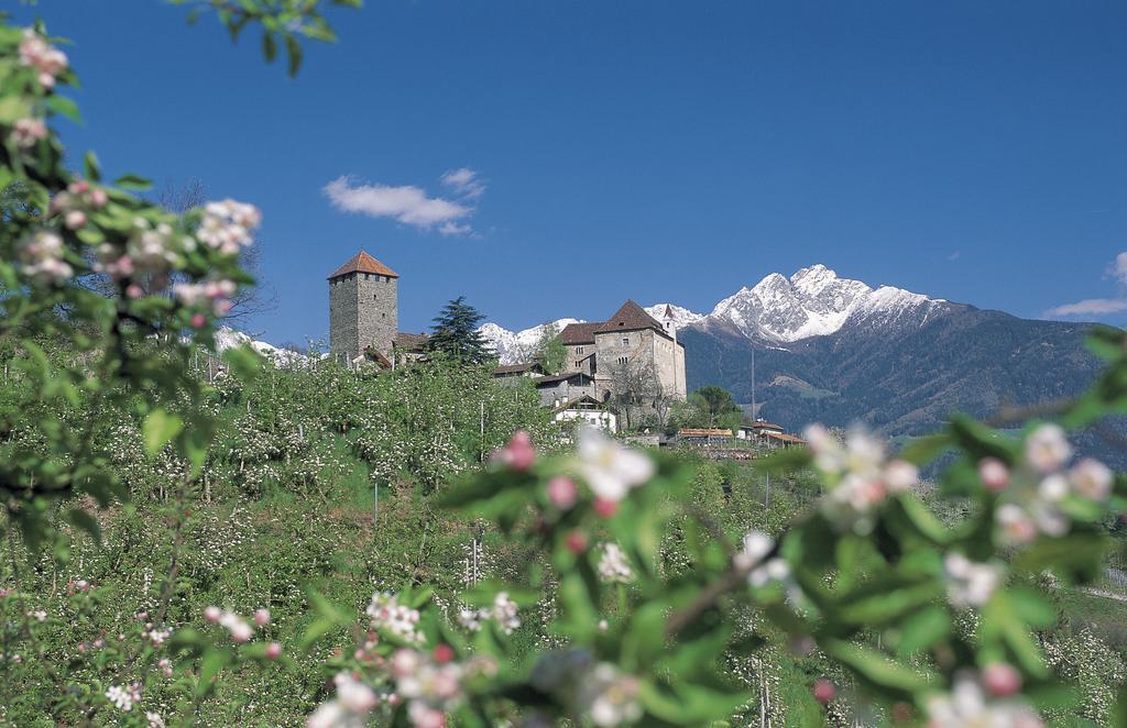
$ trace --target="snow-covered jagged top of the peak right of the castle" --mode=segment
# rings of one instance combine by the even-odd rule
[[[824,265],[795,275],[772,273],[720,301],[701,319],[704,328],[735,329],[749,339],[792,343],[836,334],[862,322],[895,326],[926,320],[929,309],[947,302],[893,286],[872,288],[860,281],[838,277]]]

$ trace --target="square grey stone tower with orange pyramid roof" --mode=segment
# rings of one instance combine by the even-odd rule
[[[369,347],[391,358],[399,274],[363,250],[329,276],[329,350],[350,362]]]

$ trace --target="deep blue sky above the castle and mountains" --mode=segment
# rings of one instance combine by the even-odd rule
[[[461,294],[509,328],[708,311],[814,263],[1127,321],[1121,2],[367,6],[295,80],[154,0],[15,12],[74,39],[76,158],[263,208],[268,340],[326,335],[325,276],[361,247],[408,331]]]

